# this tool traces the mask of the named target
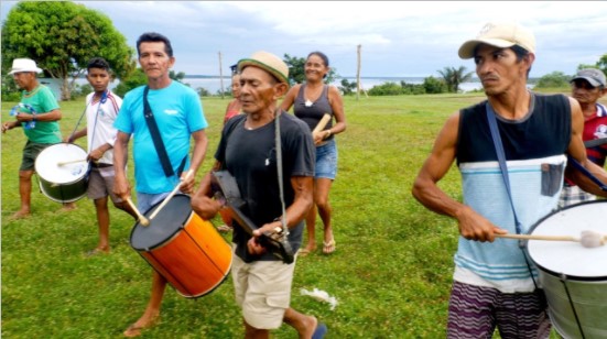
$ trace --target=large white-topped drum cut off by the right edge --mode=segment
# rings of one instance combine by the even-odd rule
[[[540,220],[538,236],[607,234],[607,201],[573,205]],[[607,244],[530,240],[527,251],[540,271],[555,329],[564,338],[607,338]]]

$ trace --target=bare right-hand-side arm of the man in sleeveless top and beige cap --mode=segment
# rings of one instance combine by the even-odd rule
[[[582,139],[582,133],[584,131],[584,116],[582,114],[582,108],[575,99],[568,99],[572,111],[572,136],[567,153],[598,181],[600,181],[604,185],[607,185],[607,173],[605,170],[590,162],[586,156],[586,147],[584,146],[584,141]],[[565,175],[585,192],[597,196],[607,197],[607,192],[600,189],[600,187],[593,179],[577,170],[572,162],[567,164]]]

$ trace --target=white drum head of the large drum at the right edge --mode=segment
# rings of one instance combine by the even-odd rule
[[[607,234],[607,201],[590,201],[570,206],[540,220],[531,230],[533,236],[572,236],[582,231]],[[607,278],[607,244],[585,248],[573,241],[530,240],[527,250],[531,260],[543,271],[579,281]]]

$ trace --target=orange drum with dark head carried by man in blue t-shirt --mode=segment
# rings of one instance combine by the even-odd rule
[[[209,221],[192,210],[186,195],[173,196],[149,226],[137,222],[131,247],[184,297],[210,293],[231,267],[230,245]]]

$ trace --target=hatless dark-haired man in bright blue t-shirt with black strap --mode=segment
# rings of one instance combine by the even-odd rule
[[[129,140],[133,135],[137,204],[138,210],[145,212],[167,197],[176,186],[182,193],[192,193],[195,174],[207,149],[205,129],[208,123],[196,91],[169,76],[175,64],[171,41],[159,33],[143,33],[137,41],[137,52],[139,64],[148,77],[148,85],[127,92],[115,122],[118,134],[113,145],[113,192],[123,200],[130,201],[130,185],[124,165]],[[144,117],[144,111],[149,116],[145,100],[156,122],[166,152],[166,162],[161,160],[160,150],[154,146],[154,136]],[[191,139],[194,140],[192,158],[188,155]],[[172,170],[172,173],[167,170]],[[152,270],[150,300],[143,315],[124,331],[126,337],[140,336],[143,329],[159,320],[165,288],[166,280]]]

